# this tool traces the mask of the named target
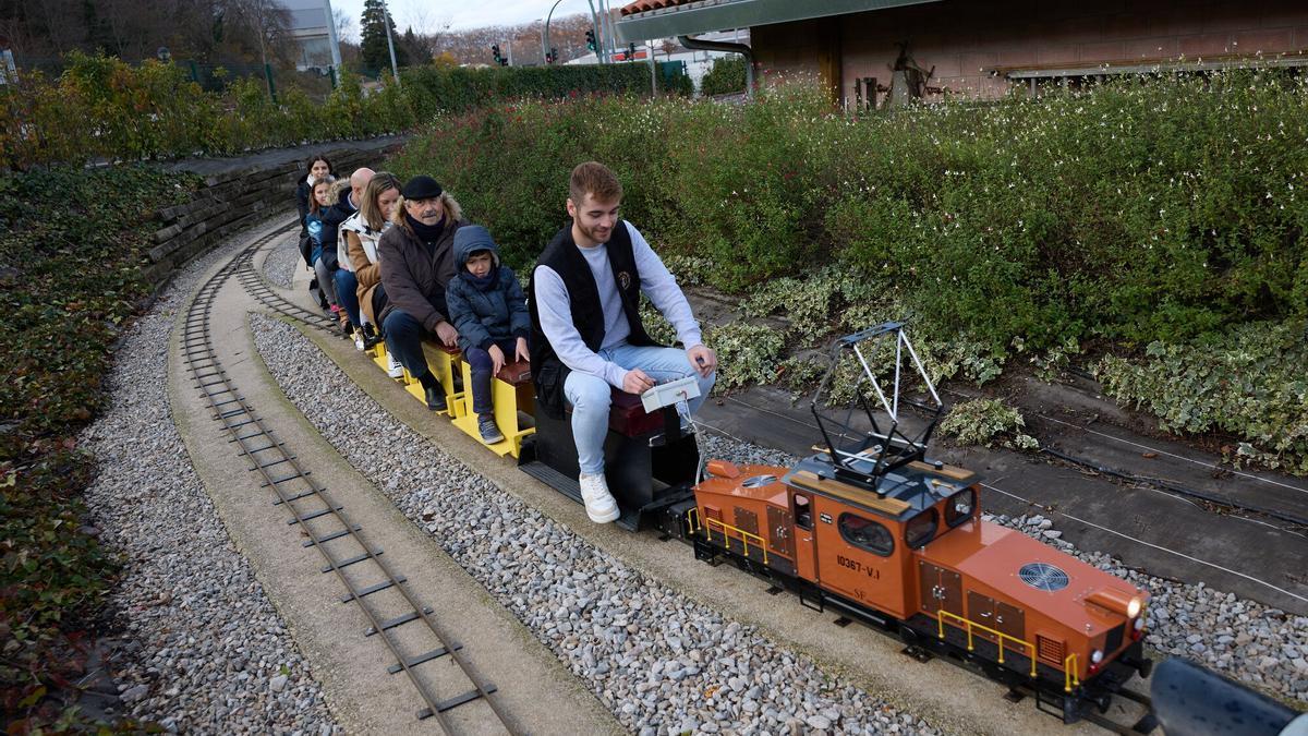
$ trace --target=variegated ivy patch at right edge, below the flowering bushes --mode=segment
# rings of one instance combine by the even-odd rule
[[[1308,475],[1308,322],[1254,322],[1188,343],[1150,343],[1142,359],[1105,358],[1109,394],[1172,432],[1231,432],[1233,461]]]

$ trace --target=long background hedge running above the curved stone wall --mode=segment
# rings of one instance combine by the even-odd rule
[[[684,76],[684,75],[683,75]],[[323,103],[286,89],[273,102],[259,79],[205,92],[182,67],[72,52],[63,75],[25,73],[0,86],[0,169],[88,161],[225,156],[242,151],[407,131],[441,111],[514,97],[559,98],[649,89],[638,64],[405,69],[365,94],[348,72]]]

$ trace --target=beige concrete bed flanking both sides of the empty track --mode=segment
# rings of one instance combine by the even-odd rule
[[[251,232],[249,240],[272,229]],[[277,439],[344,504],[352,520],[362,525],[369,545],[385,550],[385,559],[408,578],[413,595],[434,609],[434,618],[453,639],[464,644],[464,653],[483,678],[498,686],[515,724],[534,733],[619,732],[606,708],[557,659],[354,473],[292,407],[254,350],[247,323],[251,299],[234,279],[220,292],[211,317],[218,359]],[[434,719],[415,718],[420,706],[416,690],[403,674],[387,674],[392,659],[378,638],[364,635],[368,623],[358,606],[340,602],[344,589],[320,572],[319,553],[302,546],[298,528],[286,524],[288,513],[272,506],[272,492],[259,487],[220,423],[211,419],[178,348],[174,331],[169,371],[174,420],[233,541],[251,561],[288,622],[334,715],[357,733],[438,732]],[[433,665],[436,672],[443,667],[426,667]],[[450,711],[455,723],[471,732],[485,732],[467,722],[470,716],[463,714],[472,712],[466,710],[470,707]]]

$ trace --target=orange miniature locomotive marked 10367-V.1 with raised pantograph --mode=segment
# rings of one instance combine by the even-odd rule
[[[934,398],[900,397],[899,364],[887,398],[869,368],[867,340],[893,337]],[[883,346],[884,347],[884,346]],[[925,460],[939,398],[903,334],[887,323],[844,338],[863,368],[844,420],[814,399],[827,447],[793,468],[708,464],[693,500],[680,504],[684,533],[705,561],[731,558],[797,591],[819,610],[835,608],[899,634],[910,651],[948,655],[1037,703],[1057,703],[1066,722],[1093,718],[1135,672],[1148,596],[1129,583],[1025,534],[982,521],[980,478]],[[889,426],[863,399],[880,398]],[[934,410],[916,437],[899,422],[901,401]],[[841,440],[845,440],[844,443]],[[815,448],[816,449],[816,448]],[[929,655],[927,655],[929,656]]]

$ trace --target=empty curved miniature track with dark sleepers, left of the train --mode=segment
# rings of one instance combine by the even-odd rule
[[[273,506],[290,512],[286,524],[298,528],[298,532],[307,537],[303,546],[314,546],[323,555],[326,564],[320,572],[335,574],[344,585],[347,593],[341,596],[341,602],[358,602],[360,610],[369,623],[364,635],[379,636],[390,650],[395,664],[387,672],[390,674],[404,672],[421,695],[424,706],[416,711],[417,719],[436,718],[446,733],[456,733],[459,728],[451,723],[449,711],[466,703],[484,702],[490,716],[505,731],[519,733],[521,729],[513,724],[511,718],[494,697],[496,686],[484,682],[460,652],[463,646],[450,640],[441,625],[430,616],[430,609],[424,606],[404,584],[404,575],[395,572],[381,559],[383,551],[368,543],[362,529],[351,521],[344,507],[314,479],[311,471],[300,464],[285,443],[276,439],[255,409],[241,396],[239,389],[218,360],[209,325],[218,292],[232,276],[239,276],[245,270],[249,270],[251,258],[260,248],[285,234],[292,227],[288,225],[256,240],[200,288],[186,312],[182,327],[183,361],[195,381],[195,388],[201,392],[212,411],[213,419],[221,422],[226,433],[230,435],[228,441],[239,448],[237,454],[246,458],[251,473],[259,473],[263,479],[260,487],[272,488],[276,494]],[[241,278],[239,280],[246,288],[251,288],[247,279]],[[276,297],[271,289],[263,288],[267,291],[266,297]],[[259,297],[258,293],[255,296]],[[266,299],[260,299],[260,301],[267,304]],[[290,313],[290,316],[309,323],[314,322],[305,318],[305,314],[317,321],[327,322],[326,318],[305,312],[290,303],[285,304],[288,309],[279,310]],[[292,308],[296,312],[290,312]],[[326,325],[319,326],[327,329]],[[383,592],[386,593],[383,595]],[[383,613],[383,598],[386,598],[386,604],[390,604],[390,609],[399,608],[403,613],[387,617]],[[405,626],[411,622],[417,622],[417,625]],[[402,627],[403,639],[399,636]],[[416,631],[416,627],[420,630]],[[458,665],[463,678],[468,682],[468,689],[462,690],[460,685],[458,688],[462,690],[460,694],[442,698],[429,682],[429,676],[436,674],[430,668],[436,665],[429,664],[426,668],[421,665],[446,657]],[[442,682],[449,680],[449,674],[442,676]]]

